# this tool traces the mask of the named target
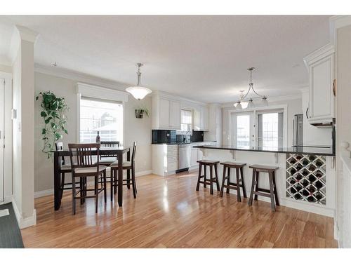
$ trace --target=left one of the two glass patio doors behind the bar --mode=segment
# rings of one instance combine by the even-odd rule
[[[232,114],[232,143],[245,149],[256,146],[255,114],[239,112]]]

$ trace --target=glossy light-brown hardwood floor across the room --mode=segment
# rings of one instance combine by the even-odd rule
[[[124,188],[119,208],[103,194],[98,214],[92,199],[77,202],[72,215],[71,193],[60,210],[53,196],[37,198],[37,225],[22,229],[26,248],[336,248],[333,219],[279,207],[233,194],[211,196],[209,188],[195,191],[196,173],[137,177],[138,197]],[[99,196],[99,197],[100,197]]]

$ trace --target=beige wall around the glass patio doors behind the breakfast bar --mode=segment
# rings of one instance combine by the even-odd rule
[[[268,99],[269,100],[269,99]],[[292,130],[292,124],[293,124],[293,116],[295,114],[302,114],[303,113],[303,107],[302,107],[302,100],[301,99],[296,99],[296,100],[281,100],[281,101],[274,101],[274,102],[269,102],[270,106],[274,105],[283,105],[287,104],[288,105],[288,140],[287,140],[287,146],[291,147],[293,143],[293,130]],[[223,144],[228,144],[229,142],[229,111],[233,110],[234,107],[225,107],[222,109],[222,141]]]

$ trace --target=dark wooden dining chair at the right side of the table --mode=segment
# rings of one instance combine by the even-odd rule
[[[111,185],[110,185],[111,201],[113,198],[114,188],[116,189],[118,187],[118,184],[119,184],[117,174],[118,174],[118,168],[120,165],[122,166],[123,170],[131,170],[131,184],[133,187],[133,196],[134,196],[134,198],[136,198],[137,189],[136,189],[136,183],[135,183],[135,152],[136,152],[136,142],[133,142],[133,152],[132,152],[132,156],[131,156],[131,161],[124,161],[121,164],[118,161],[115,161],[110,166],[110,168],[111,168]],[[124,179],[124,180],[122,180],[122,184],[129,185],[130,184],[129,181],[130,181],[130,179],[128,179],[128,178]]]

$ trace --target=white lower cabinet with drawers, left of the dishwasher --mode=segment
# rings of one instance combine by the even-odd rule
[[[178,169],[178,145],[152,144],[152,173],[173,175]]]

